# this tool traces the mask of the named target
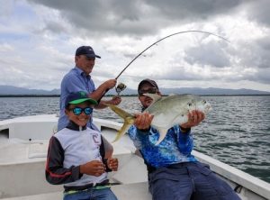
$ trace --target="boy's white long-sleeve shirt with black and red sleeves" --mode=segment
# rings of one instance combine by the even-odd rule
[[[85,127],[79,130],[74,123],[53,135],[49,141],[46,179],[50,184],[85,186],[101,183],[107,173],[99,177],[80,174],[79,166],[91,160],[103,160],[101,133]]]

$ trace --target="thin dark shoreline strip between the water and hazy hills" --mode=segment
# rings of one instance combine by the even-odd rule
[[[109,96],[114,96],[114,95],[105,95],[105,97],[109,97]],[[132,96],[138,96],[138,95],[121,95],[121,96],[132,97]],[[238,96],[238,95],[201,95],[201,96]],[[245,96],[245,95],[241,95],[241,96]],[[1,97],[60,97],[60,95],[0,95],[0,98]]]

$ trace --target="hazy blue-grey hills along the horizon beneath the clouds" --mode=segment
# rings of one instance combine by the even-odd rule
[[[160,88],[163,95],[170,94],[193,94],[193,95],[270,95],[270,92],[252,89],[224,89],[224,88],[201,88],[201,87],[180,87]],[[107,95],[115,95],[111,89]],[[60,89],[42,90],[28,89],[17,86],[0,86],[0,95],[60,95]],[[121,95],[137,95],[137,90],[126,88]]]

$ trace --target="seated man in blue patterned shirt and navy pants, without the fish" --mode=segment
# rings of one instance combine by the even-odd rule
[[[139,83],[138,93],[142,110],[153,102],[143,94],[161,95],[157,83],[151,79]],[[191,154],[191,128],[202,122],[202,112],[193,111],[189,114],[188,123],[169,129],[166,138],[158,145],[155,142],[159,133],[150,126],[154,116],[148,113],[135,115],[135,123],[128,133],[148,167],[148,186],[153,200],[240,199],[225,181],[214,175],[208,165]]]

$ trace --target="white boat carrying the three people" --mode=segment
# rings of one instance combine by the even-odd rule
[[[0,199],[62,199],[62,186],[45,180],[48,142],[57,127],[55,114],[18,117],[0,121]],[[103,136],[112,141],[121,123],[94,119]],[[113,143],[119,170],[110,173],[112,191],[119,200],[150,200],[147,169],[127,135]],[[193,150],[193,155],[236,190],[243,200],[270,199],[270,184]]]

